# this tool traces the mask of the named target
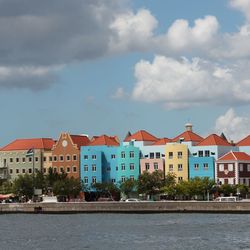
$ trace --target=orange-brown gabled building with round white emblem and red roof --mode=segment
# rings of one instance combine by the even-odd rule
[[[67,173],[69,177],[80,178],[80,149],[89,144],[86,135],[61,133],[52,148],[52,168],[54,172]]]

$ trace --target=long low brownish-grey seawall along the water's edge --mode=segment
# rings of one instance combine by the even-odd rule
[[[0,204],[0,213],[249,213],[250,202],[79,202]]]

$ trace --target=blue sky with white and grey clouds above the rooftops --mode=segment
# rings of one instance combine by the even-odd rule
[[[250,0],[2,0],[0,41],[0,146],[250,134]]]

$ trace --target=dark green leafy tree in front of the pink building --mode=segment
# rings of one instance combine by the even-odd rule
[[[164,174],[160,170],[153,173],[144,172],[138,178],[138,192],[141,194],[149,196],[158,194],[163,186]]]

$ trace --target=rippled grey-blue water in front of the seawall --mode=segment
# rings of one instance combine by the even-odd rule
[[[250,249],[250,215],[7,214],[0,249]]]

